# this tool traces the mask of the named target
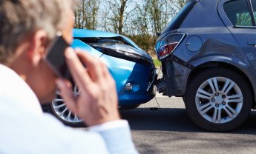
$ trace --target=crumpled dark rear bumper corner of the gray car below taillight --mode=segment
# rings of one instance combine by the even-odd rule
[[[157,83],[158,91],[170,97],[183,96],[193,66],[186,64],[176,56],[169,56],[162,63],[163,78],[160,78]]]

